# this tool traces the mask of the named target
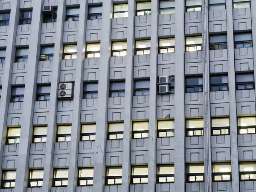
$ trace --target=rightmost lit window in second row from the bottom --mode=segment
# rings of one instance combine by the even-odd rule
[[[239,117],[237,118],[239,134],[255,134],[256,118]]]

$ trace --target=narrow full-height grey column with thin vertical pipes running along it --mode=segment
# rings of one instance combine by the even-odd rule
[[[211,113],[210,113],[210,65],[209,65],[209,19],[208,0],[202,3],[203,18],[203,80],[204,80],[204,186],[212,192],[212,156],[211,156]]]

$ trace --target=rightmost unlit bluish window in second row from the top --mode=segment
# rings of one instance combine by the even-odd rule
[[[235,48],[253,47],[252,33],[235,34]]]

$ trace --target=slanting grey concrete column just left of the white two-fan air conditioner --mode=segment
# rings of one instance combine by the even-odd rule
[[[58,0],[58,14],[55,32],[55,44],[54,44],[54,57],[52,66],[52,83],[51,83],[51,95],[49,103],[49,119],[47,128],[47,141],[45,150],[45,162],[44,162],[44,180],[42,192],[50,192],[52,187],[52,177],[53,177],[53,153],[54,145],[56,141],[56,116],[57,116],[57,106],[58,106],[58,83],[60,79],[60,68],[61,59],[63,53],[63,28],[65,20],[65,0]]]

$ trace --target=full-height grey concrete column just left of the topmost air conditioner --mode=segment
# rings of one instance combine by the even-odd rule
[[[33,134],[33,114],[36,96],[36,80],[41,39],[41,9],[44,0],[37,0],[33,5],[31,34],[29,36],[29,55],[26,66],[23,113],[20,128],[20,144],[17,158],[15,192],[26,192],[29,177],[29,150]],[[32,93],[32,94],[31,94]]]

